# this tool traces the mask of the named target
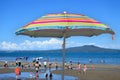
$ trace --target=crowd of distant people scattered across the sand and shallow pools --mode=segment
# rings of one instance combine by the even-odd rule
[[[90,59],[89,60],[90,63],[92,63],[92,60]],[[103,61],[102,61],[103,62]],[[39,79],[39,73],[42,73],[42,70],[44,69],[44,77],[46,78],[46,80],[52,80],[52,77],[53,77],[53,74],[51,72],[51,68],[53,68],[53,65],[54,65],[54,68],[56,70],[58,70],[59,66],[58,66],[58,62],[50,62],[49,59],[45,59],[45,60],[42,60],[41,58],[34,58],[33,61],[32,61],[32,65],[31,65],[31,62],[30,63],[26,63],[26,64],[23,64],[21,62],[21,59],[18,59],[16,58],[16,61],[15,61],[15,69],[14,69],[14,72],[16,74],[16,80],[19,78],[19,76],[21,75],[21,69],[33,69],[34,70],[34,77],[37,79]],[[5,67],[8,67],[8,62],[6,61],[5,62]],[[73,67],[73,62],[72,61],[69,61],[68,63],[65,62],[65,69],[74,69],[75,67]],[[49,73],[46,72],[46,70],[49,69]],[[76,69],[78,70],[78,73],[82,73],[84,75],[86,75],[86,71],[87,71],[87,66],[86,64],[81,64],[80,62],[78,62],[78,66],[76,67]],[[91,69],[94,70],[95,67],[94,65],[91,65]],[[32,75],[31,75],[32,76]]]

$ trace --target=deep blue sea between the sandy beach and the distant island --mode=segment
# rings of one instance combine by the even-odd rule
[[[42,60],[48,59],[49,61],[62,62],[62,52],[44,52],[44,51],[0,51],[0,61],[15,61],[18,57],[28,57],[28,61],[32,61],[33,58],[43,57]],[[120,53],[81,53],[81,52],[66,52],[65,61],[73,63],[89,64],[90,61],[93,64],[111,64],[120,65]]]

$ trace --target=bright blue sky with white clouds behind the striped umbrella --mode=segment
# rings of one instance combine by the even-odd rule
[[[50,13],[77,13],[107,24],[114,32],[66,39],[66,47],[95,45],[120,49],[120,0],[0,0],[0,50],[61,49],[63,38],[17,36],[17,29]]]

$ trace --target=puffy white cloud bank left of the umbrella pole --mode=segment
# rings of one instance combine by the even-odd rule
[[[1,50],[49,50],[60,49],[62,40],[51,38],[45,41],[29,41],[25,40],[23,43],[12,43],[3,41],[0,43]]]

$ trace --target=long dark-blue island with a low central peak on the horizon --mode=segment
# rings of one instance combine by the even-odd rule
[[[30,51],[30,52],[61,52],[61,49],[58,50],[17,50],[17,51]],[[84,53],[89,53],[89,52],[95,52],[95,53],[119,53],[120,50],[119,49],[109,49],[109,48],[101,48],[101,47],[97,47],[94,45],[84,45],[84,46],[80,46],[80,47],[72,47],[72,48],[67,48],[66,49],[67,53],[73,53],[73,52],[84,52]]]

